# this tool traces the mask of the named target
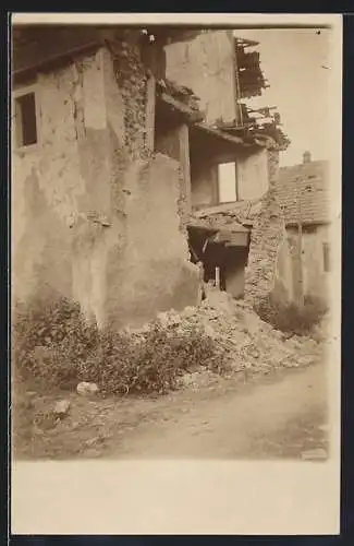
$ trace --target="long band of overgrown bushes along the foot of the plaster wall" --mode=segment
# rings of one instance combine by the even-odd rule
[[[48,387],[93,381],[107,393],[163,393],[197,365],[223,369],[215,342],[196,328],[156,321],[139,335],[98,330],[66,299],[17,308],[13,345],[19,376]]]

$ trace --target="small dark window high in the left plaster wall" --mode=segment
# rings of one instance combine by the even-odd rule
[[[38,142],[36,97],[26,93],[15,98],[15,130],[17,146],[30,146]]]

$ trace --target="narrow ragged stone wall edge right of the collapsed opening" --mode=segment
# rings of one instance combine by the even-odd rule
[[[270,294],[276,295],[278,290],[279,250],[286,241],[284,217],[277,195],[279,151],[268,150],[269,190],[261,199],[261,206],[254,219],[245,271],[245,299],[252,304]]]

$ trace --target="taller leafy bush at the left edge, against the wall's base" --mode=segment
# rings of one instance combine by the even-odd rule
[[[34,300],[14,309],[12,346],[15,372],[22,379],[69,387],[82,363],[98,345],[98,331],[65,298]]]

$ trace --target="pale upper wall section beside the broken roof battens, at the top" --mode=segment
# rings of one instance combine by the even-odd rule
[[[200,98],[206,122],[233,121],[235,104],[235,48],[232,32],[207,31],[196,38],[166,46],[167,78],[191,87]]]

